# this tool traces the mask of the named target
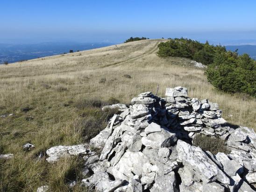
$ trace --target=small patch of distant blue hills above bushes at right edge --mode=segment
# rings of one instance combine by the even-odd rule
[[[238,49],[238,54],[242,55],[247,53],[251,58],[256,60],[256,45],[228,45],[225,46],[227,50],[235,51]]]

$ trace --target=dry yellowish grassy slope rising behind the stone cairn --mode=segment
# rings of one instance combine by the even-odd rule
[[[207,82],[204,71],[191,67],[189,60],[157,57],[160,41],[164,40],[135,41],[1,65],[0,115],[14,115],[0,118],[0,153],[14,153],[15,158],[1,164],[4,171],[0,187],[35,191],[37,186],[55,179],[51,185],[64,190],[56,186],[65,175],[61,168],[64,164],[52,166],[33,157],[54,145],[84,141],[76,122],[88,111],[74,104],[81,99],[107,101],[115,97],[121,103],[129,103],[141,92],[155,92],[158,84],[160,96],[164,96],[166,87],[184,86],[190,97],[219,103],[229,123],[256,128],[254,98],[217,91]],[[124,77],[126,74],[132,78]],[[24,112],[24,108],[31,110]],[[35,144],[36,149],[23,152],[22,144],[27,142]],[[71,166],[66,164],[64,167]]]

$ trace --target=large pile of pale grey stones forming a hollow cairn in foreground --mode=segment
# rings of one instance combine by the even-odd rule
[[[129,107],[106,106],[120,114],[90,144],[52,147],[47,160],[83,155],[82,185],[100,192],[255,191],[254,130],[228,126],[217,103],[191,99],[186,88],[167,88],[165,96],[146,92]],[[197,134],[225,140],[229,154],[193,146]],[[103,147],[100,156],[89,145]]]

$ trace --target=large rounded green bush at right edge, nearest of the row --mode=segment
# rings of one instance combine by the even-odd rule
[[[206,69],[206,75],[217,89],[256,96],[256,62],[247,54],[217,53],[213,64]]]

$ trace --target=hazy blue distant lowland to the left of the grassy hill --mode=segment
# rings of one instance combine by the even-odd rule
[[[112,45],[107,42],[97,43],[74,43],[74,42],[46,42],[36,44],[8,44],[0,43],[0,64],[12,63],[22,60],[36,59],[45,56],[59,55],[80,50],[101,48]]]

